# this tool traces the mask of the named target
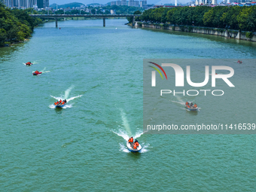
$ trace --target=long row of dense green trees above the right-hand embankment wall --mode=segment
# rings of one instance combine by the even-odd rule
[[[255,32],[256,6],[155,8],[144,11],[139,20]]]

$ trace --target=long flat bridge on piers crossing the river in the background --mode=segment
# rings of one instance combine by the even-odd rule
[[[53,18],[56,22],[56,27],[58,27],[58,18],[66,17],[88,17],[88,18],[102,18],[103,26],[105,27],[105,18],[113,17],[133,17],[133,26],[135,24],[135,17],[140,17],[140,14],[29,14],[30,17],[39,17],[39,18]]]

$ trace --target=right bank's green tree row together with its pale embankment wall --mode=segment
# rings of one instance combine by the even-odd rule
[[[256,41],[256,6],[155,8],[136,21],[139,27]]]

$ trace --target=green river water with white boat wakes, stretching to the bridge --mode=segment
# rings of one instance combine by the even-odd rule
[[[143,134],[142,64],[255,59],[256,43],[124,23],[45,23],[26,43],[0,48],[0,191],[254,191],[254,135]],[[256,67],[234,67],[248,87],[234,96],[247,106],[239,114],[254,120]],[[56,109],[56,99],[68,105]],[[171,100],[173,115],[191,116]],[[203,114],[226,117],[202,109],[194,118]],[[141,153],[126,149],[129,136]]]

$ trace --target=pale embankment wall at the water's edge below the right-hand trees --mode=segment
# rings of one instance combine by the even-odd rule
[[[132,26],[130,24],[130,26]],[[157,23],[141,23],[136,22],[135,26],[145,27],[152,29],[166,29],[179,32],[195,32],[206,35],[218,35],[225,38],[235,38],[239,40],[254,41],[256,42],[256,35],[253,32],[239,32],[237,30],[209,28],[200,26],[175,26],[171,24],[157,24]]]

